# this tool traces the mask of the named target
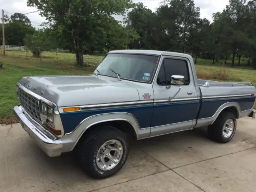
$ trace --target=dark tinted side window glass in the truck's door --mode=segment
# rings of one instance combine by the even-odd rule
[[[164,72],[161,72],[162,70]],[[165,82],[163,83],[162,79],[164,74],[165,74]],[[190,78],[189,78],[188,64],[186,63],[186,61],[178,60],[178,59],[168,59],[168,58],[164,59],[164,62],[162,63],[162,66],[157,78],[157,83],[159,82],[158,85],[162,85],[162,86],[170,85],[170,79],[172,75],[184,76],[185,77],[184,85],[188,85],[190,83]]]

